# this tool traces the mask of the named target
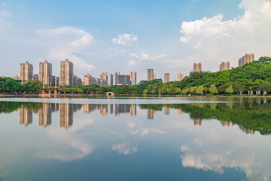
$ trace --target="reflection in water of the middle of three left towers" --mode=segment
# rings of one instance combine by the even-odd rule
[[[51,103],[42,103],[42,108],[38,110],[39,125],[47,127],[52,123]]]

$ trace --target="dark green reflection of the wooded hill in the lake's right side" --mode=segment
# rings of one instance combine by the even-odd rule
[[[260,104],[259,104],[260,103]],[[217,119],[225,122],[231,122],[241,126],[244,132],[252,133],[259,131],[260,134],[271,134],[271,101],[252,101],[242,103],[219,103],[209,104],[172,104],[166,105],[174,109],[182,109],[188,113],[191,119]],[[213,109],[216,107],[215,109]],[[241,129],[240,128],[240,129]]]

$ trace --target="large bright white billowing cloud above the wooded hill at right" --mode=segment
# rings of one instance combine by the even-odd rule
[[[223,15],[192,22],[183,22],[180,42],[192,47],[195,53],[188,57],[191,65],[201,61],[217,70],[222,61],[237,65],[239,57],[254,53],[255,57],[269,56],[271,34],[271,2],[265,0],[243,0],[240,9],[244,14],[233,20],[223,21]],[[263,28],[264,27],[264,28]],[[214,62],[217,62],[215,64]]]

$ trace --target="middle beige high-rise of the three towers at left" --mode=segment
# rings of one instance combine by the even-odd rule
[[[52,64],[46,60],[39,63],[39,80],[44,84],[52,83]]]

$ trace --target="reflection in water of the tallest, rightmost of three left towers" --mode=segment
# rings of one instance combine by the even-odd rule
[[[59,126],[68,128],[73,124],[73,105],[59,104]]]

